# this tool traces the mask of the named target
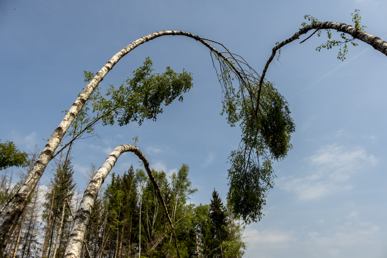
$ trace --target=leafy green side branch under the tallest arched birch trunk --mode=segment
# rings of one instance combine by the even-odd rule
[[[156,121],[157,115],[163,113],[163,105],[170,105],[176,98],[183,101],[182,94],[193,86],[192,74],[184,69],[182,73],[177,73],[166,67],[163,74],[158,74],[152,72],[154,69],[149,57],[143,64],[133,71],[132,78],[128,77],[118,88],[109,84],[104,96],[101,87],[96,86],[65,136],[72,139],[60,151],[84,132],[94,136],[95,125],[100,122],[103,126],[112,126],[116,122],[119,126],[137,122],[140,126],[145,119]],[[84,71],[84,77],[85,83],[89,83],[94,74]]]

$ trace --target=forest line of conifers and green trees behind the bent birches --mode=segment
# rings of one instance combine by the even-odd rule
[[[31,170],[38,153],[31,153],[29,165],[17,174],[20,181]],[[4,258],[63,257],[80,196],[69,155],[58,155],[51,170],[47,185],[34,190],[9,239]],[[95,165],[91,165],[86,179],[91,179],[95,171]],[[1,172],[0,201],[4,205],[17,183],[12,172]],[[164,171],[152,173],[173,221],[181,257],[243,256],[244,227],[215,189],[210,204],[195,205],[190,197],[198,190],[192,188],[187,164],[169,177]],[[171,227],[162,209],[143,169],[131,165],[123,173],[112,173],[111,182],[101,188],[94,203],[81,257],[175,257]]]

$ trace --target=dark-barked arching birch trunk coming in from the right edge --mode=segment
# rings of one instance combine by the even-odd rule
[[[309,25],[305,26],[304,28],[300,29],[299,31],[297,31],[293,36],[291,36],[287,40],[284,40],[281,43],[277,44],[272,49],[272,54],[271,54],[269,60],[267,60],[264,71],[262,72],[262,76],[260,77],[258,96],[257,96],[257,102],[256,102],[256,112],[258,110],[260,91],[262,88],[262,83],[264,81],[267,68],[269,67],[269,64],[273,60],[274,56],[276,55],[277,50],[279,50],[284,45],[289,44],[290,42],[299,39],[299,37],[302,34],[305,34],[312,29],[335,29],[337,31],[347,33],[347,34],[353,36],[353,38],[361,40],[361,41],[373,46],[373,48],[375,48],[376,50],[387,55],[387,42],[381,40],[378,37],[372,36],[371,34],[368,34],[365,31],[362,31],[360,29],[356,29],[356,28],[352,27],[351,25],[347,25],[345,23],[339,23],[339,22],[314,22],[312,24],[309,24]]]

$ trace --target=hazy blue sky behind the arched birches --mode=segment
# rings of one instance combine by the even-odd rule
[[[387,40],[387,2],[333,1],[0,1],[0,139],[21,150],[50,134],[84,88],[83,71],[97,72],[119,50],[165,29],[223,43],[262,71],[276,41],[292,36],[310,14],[351,24],[361,10],[366,31]],[[336,38],[338,34],[334,32]],[[306,36],[303,36],[305,38]],[[301,39],[302,40],[302,39]],[[387,57],[363,42],[337,50],[315,48],[325,34],[282,50],[266,74],[289,102],[296,123],[293,150],[274,164],[276,185],[264,218],[248,225],[246,257],[386,257]],[[221,88],[207,48],[183,36],[164,36],[130,52],[100,84],[120,85],[146,57],[156,72],[170,66],[193,73],[183,103],[164,108],[156,122],[97,127],[101,139],[74,145],[80,188],[91,163],[101,166],[113,148],[132,144],[151,167],[171,174],[182,163],[208,203],[215,187],[225,200],[227,157],[240,141],[221,117]],[[137,159],[123,155],[121,173]],[[48,174],[46,173],[45,178]],[[44,179],[43,179],[44,180]]]

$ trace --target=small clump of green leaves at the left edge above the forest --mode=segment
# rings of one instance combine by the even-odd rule
[[[14,142],[6,141],[1,143],[0,139],[0,170],[9,167],[27,167],[28,153],[21,152]]]

